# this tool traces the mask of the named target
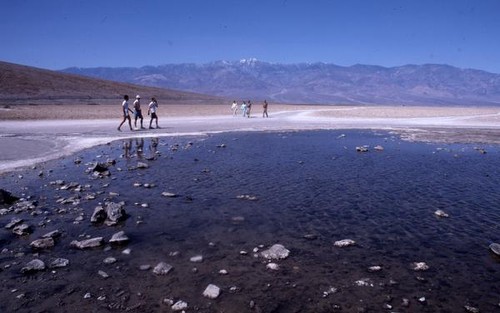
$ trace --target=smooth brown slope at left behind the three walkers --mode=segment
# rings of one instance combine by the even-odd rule
[[[0,62],[1,104],[116,104],[124,94],[131,98],[139,94],[145,99],[155,96],[162,103],[220,102],[213,96]]]

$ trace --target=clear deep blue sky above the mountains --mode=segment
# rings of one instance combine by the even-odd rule
[[[498,0],[12,0],[0,60],[47,69],[257,58],[500,73]]]

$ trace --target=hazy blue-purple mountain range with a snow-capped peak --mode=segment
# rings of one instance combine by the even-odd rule
[[[500,75],[448,65],[398,67],[255,59],[141,68],[68,68],[65,73],[283,103],[500,105]]]

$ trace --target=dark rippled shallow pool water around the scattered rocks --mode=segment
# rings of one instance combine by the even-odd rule
[[[369,152],[356,151],[363,145]],[[500,259],[488,250],[500,241],[498,146],[408,143],[365,131],[229,133],[126,140],[80,153],[80,165],[75,157],[1,178],[4,189],[39,200],[40,210],[0,216],[1,225],[13,216],[34,225],[25,238],[0,230],[2,312],[169,311],[164,298],[186,301],[188,312],[500,310]],[[117,160],[110,177],[85,173],[85,163],[107,158]],[[149,168],[134,169],[138,161]],[[50,185],[57,179],[89,186],[58,190]],[[56,202],[88,193],[96,199]],[[125,201],[129,218],[91,225],[94,208],[108,200]],[[436,217],[437,209],[450,217]],[[20,274],[33,258],[29,243],[56,228],[62,238],[38,258],[71,265]],[[69,248],[82,235],[109,240],[118,230],[131,238],[126,246]],[[346,238],[357,244],[334,247]],[[254,256],[274,243],[291,251],[278,271]],[[195,255],[203,262],[190,262]],[[117,262],[104,264],[108,256]],[[139,270],[160,261],[174,270],[163,277]],[[430,269],[416,272],[413,262]],[[382,269],[368,270],[375,265]],[[202,296],[210,283],[222,290],[216,300]]]

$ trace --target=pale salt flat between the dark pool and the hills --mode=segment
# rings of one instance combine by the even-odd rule
[[[118,108],[119,109],[119,108]],[[13,106],[0,110],[0,173],[71,155],[114,140],[239,131],[387,130],[404,139],[500,144],[500,108],[273,105],[262,118],[232,116],[229,105],[165,105],[161,129],[116,130],[120,113],[108,105]],[[144,126],[149,126],[146,115]]]

